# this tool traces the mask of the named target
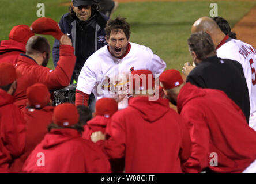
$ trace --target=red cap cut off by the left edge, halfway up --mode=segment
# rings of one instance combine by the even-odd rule
[[[0,86],[6,86],[20,78],[21,73],[11,63],[0,63]]]

